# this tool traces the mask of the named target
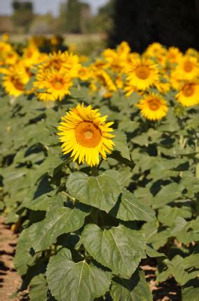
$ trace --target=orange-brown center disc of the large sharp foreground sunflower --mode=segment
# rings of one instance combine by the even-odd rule
[[[76,140],[81,146],[95,148],[101,141],[102,135],[97,127],[90,121],[83,121],[75,129]]]

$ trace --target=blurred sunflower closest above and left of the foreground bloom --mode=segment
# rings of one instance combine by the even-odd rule
[[[64,96],[70,94],[69,88],[72,84],[71,77],[67,73],[51,69],[36,75],[34,87],[44,90],[37,94],[41,101],[62,101]]]

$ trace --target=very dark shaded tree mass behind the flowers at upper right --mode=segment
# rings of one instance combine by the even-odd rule
[[[114,0],[114,27],[109,46],[125,40],[133,51],[153,41],[166,46],[198,49],[198,12],[195,0]]]

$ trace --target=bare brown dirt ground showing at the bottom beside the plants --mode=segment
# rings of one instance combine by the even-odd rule
[[[20,288],[20,276],[13,266],[13,255],[15,254],[18,235],[11,231],[9,226],[4,224],[4,218],[0,217],[0,301],[11,301],[13,293]],[[180,288],[174,278],[156,284],[156,260],[144,260],[142,269],[146,274],[153,293],[154,301],[180,301]],[[13,301],[25,301],[27,297],[13,297]],[[74,300],[75,301],[75,300]],[[125,300],[123,300],[125,301]]]

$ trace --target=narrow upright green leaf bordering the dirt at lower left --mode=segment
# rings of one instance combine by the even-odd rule
[[[30,253],[31,247],[32,242],[29,234],[29,228],[27,228],[20,233],[14,257],[15,269],[18,270],[20,275],[26,274],[28,266],[32,265],[34,260],[36,260],[37,255],[32,256]]]

